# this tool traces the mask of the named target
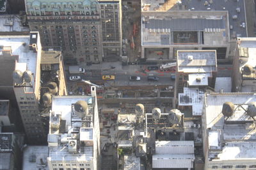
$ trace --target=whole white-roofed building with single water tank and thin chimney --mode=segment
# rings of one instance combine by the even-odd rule
[[[47,163],[54,169],[99,169],[100,129],[95,87],[91,96],[53,96]]]

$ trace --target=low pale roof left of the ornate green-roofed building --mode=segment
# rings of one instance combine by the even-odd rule
[[[22,26],[20,21],[19,15],[0,15],[0,32],[29,32],[29,27]]]

